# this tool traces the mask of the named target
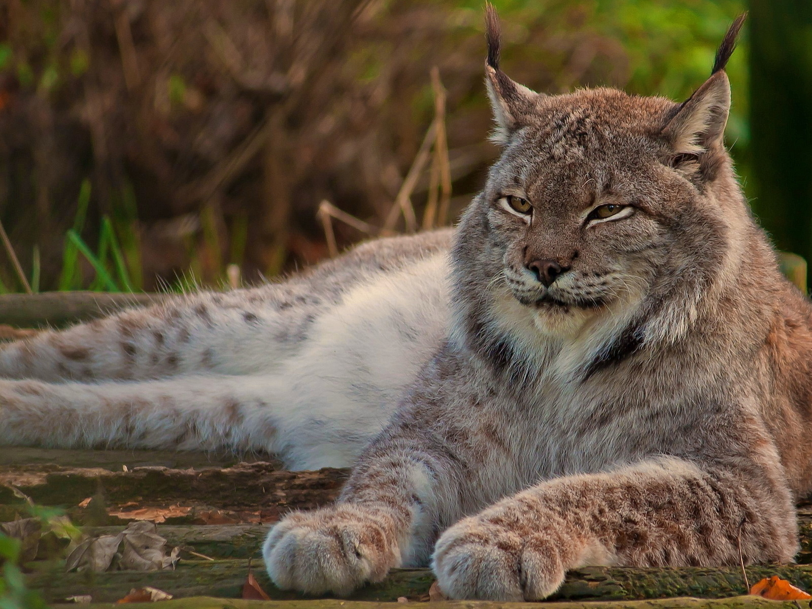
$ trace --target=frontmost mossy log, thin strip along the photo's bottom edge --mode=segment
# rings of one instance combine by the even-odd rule
[[[140,606],[140,603],[138,603]],[[806,607],[806,603],[803,605]],[[67,609],[66,605],[53,605]],[[76,605],[71,605],[76,607]],[[113,603],[93,603],[89,609],[119,609]],[[132,605],[135,607],[135,605]],[[246,601],[240,598],[192,597],[162,601],[162,609],[383,609],[391,605],[339,601],[335,599],[297,601]],[[527,603],[495,601],[441,601],[431,603],[431,609],[526,609]],[[768,601],[760,596],[731,598],[663,598],[653,601],[610,601],[592,603],[544,603],[544,609],[798,609],[797,601]]]

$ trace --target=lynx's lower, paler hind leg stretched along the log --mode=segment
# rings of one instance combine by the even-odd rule
[[[0,445],[275,451],[283,422],[274,397],[259,377],[0,381]]]

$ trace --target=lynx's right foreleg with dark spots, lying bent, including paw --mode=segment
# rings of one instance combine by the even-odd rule
[[[536,600],[587,564],[737,564],[740,530],[745,562],[789,562],[797,535],[782,482],[752,463],[665,458],[558,478],[448,529],[434,572],[451,598]]]

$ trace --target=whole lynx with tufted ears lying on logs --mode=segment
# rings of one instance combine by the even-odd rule
[[[812,490],[812,306],[723,146],[724,67],[688,100],[486,84],[502,146],[455,231],[378,240],[0,352],[0,443],[261,449],[354,465],[263,548],[348,594],[431,564],[451,598],[568,568],[788,562]]]

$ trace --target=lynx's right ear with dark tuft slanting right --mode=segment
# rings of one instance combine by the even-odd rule
[[[679,107],[663,128],[677,157],[698,155],[722,145],[730,113],[730,81],[724,67],[736,48],[736,37],[746,17],[746,13],[739,15],[728,28],[716,51],[711,78]]]

